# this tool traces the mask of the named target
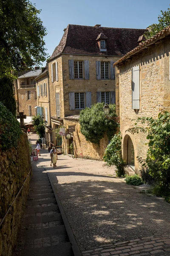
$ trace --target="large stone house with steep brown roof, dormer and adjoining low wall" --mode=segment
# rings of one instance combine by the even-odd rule
[[[63,137],[63,151],[68,154],[74,140],[74,153],[101,159],[108,144],[100,143],[102,151],[85,140],[79,132],[79,112],[96,102],[116,103],[115,69],[113,63],[139,45],[145,29],[119,29],[68,25],[59,45],[48,62],[51,126],[58,128],[77,122],[71,138]],[[75,121],[74,116],[77,116]],[[56,141],[52,133],[52,141]]]

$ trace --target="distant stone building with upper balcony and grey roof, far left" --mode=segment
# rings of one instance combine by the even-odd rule
[[[39,67],[35,70],[28,71],[19,76],[17,81],[14,81],[15,98],[17,99],[17,112],[24,112],[27,116],[35,115],[34,108],[37,105],[36,82],[34,79],[41,73]]]

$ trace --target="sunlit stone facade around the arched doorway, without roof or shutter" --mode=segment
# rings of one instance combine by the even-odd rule
[[[147,154],[146,134],[130,134],[128,128],[135,126],[137,117],[152,116],[157,118],[161,111],[170,111],[170,39],[164,39],[159,44],[146,47],[137,55],[131,56],[129,61],[119,66],[119,105],[120,130],[122,133],[122,153],[128,162],[130,137],[134,147],[134,168],[138,173],[141,165],[136,157],[144,159]],[[140,105],[139,110],[132,109],[132,68],[139,66]],[[142,125],[141,125],[142,126]],[[130,145],[131,146],[131,145]]]

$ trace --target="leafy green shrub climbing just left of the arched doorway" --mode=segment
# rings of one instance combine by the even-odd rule
[[[115,134],[108,144],[103,160],[106,162],[106,166],[116,166],[116,174],[118,177],[125,175],[123,170],[124,161],[122,158],[122,147],[121,147],[121,134]]]

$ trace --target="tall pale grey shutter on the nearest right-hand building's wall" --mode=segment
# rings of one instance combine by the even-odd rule
[[[132,109],[140,108],[139,66],[132,68]]]

